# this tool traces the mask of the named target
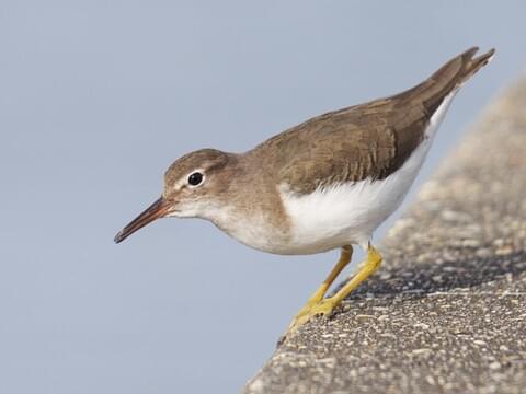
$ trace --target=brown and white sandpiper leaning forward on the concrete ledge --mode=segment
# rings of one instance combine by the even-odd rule
[[[416,86],[390,97],[313,117],[244,153],[203,149],[178,159],[162,196],[115,236],[121,242],[158,218],[196,217],[256,250],[340,259],[293,320],[288,333],[329,316],[381,263],[373,232],[402,202],[446,111],[491,49],[471,48]],[[331,283],[353,246],[367,256],[335,294]]]

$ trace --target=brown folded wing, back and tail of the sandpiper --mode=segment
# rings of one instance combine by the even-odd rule
[[[494,50],[478,48],[455,57],[421,84],[315,117],[256,147],[272,147],[277,176],[291,190],[308,194],[324,185],[382,179],[397,171],[424,138],[444,97],[484,66]]]

